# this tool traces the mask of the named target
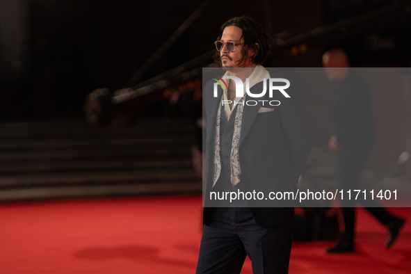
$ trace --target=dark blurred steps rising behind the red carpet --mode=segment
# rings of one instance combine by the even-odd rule
[[[0,122],[0,201],[200,193],[186,118]]]

